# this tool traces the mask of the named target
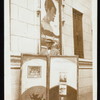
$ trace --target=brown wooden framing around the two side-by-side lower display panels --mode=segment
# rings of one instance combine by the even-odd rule
[[[79,63],[78,63],[78,56],[66,56],[66,55],[58,55],[58,56],[49,56],[49,55],[34,55],[34,54],[21,54],[21,66],[24,63],[24,57],[33,57],[33,58],[45,58],[46,59],[46,100],[49,100],[49,90],[50,90],[50,61],[54,57],[58,58],[76,58],[77,59],[77,100],[79,100]],[[22,68],[21,68],[21,75],[22,75]],[[21,76],[22,78],[22,76]]]

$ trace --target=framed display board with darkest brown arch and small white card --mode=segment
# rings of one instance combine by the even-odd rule
[[[78,62],[77,56],[50,57],[50,100],[77,100]]]

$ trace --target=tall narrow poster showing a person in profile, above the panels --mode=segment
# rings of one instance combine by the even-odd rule
[[[40,53],[43,55],[59,55],[60,33],[58,0],[42,0],[41,2]]]

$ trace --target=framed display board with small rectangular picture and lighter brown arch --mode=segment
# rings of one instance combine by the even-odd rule
[[[22,54],[21,100],[46,100],[47,57]]]

